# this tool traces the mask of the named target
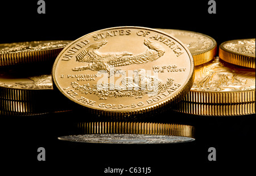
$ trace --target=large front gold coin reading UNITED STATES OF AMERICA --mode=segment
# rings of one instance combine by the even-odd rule
[[[134,115],[184,97],[193,58],[175,37],[142,27],[89,33],[69,44],[53,65],[53,81],[93,113]]]

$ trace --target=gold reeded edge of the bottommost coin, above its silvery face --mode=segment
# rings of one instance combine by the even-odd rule
[[[81,134],[147,134],[195,138],[195,127],[172,123],[150,122],[80,122]]]

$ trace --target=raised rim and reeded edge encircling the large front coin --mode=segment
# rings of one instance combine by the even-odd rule
[[[135,26],[123,26],[123,27],[112,27],[112,28],[100,29],[98,31],[94,31],[94,32],[88,33],[88,34],[86,34],[86,35],[84,35],[80,38],[77,38],[76,40],[72,41],[67,46],[65,46],[65,48],[60,52],[60,54],[55,59],[55,62],[53,63],[53,67],[52,67],[53,83],[60,90],[60,92],[63,93],[63,91],[59,87],[59,84],[57,84],[57,80],[56,80],[56,76],[55,76],[56,75],[55,70],[56,70],[57,62],[59,61],[61,55],[69,48],[69,46],[73,45],[77,41],[82,40],[82,38],[84,38],[84,37],[92,36],[92,35],[94,35],[98,32],[108,31],[108,30],[111,30],[111,29],[121,29],[121,28],[134,28],[134,29],[142,29],[143,28],[143,29],[147,29],[148,31],[159,32],[159,33],[162,33],[163,35],[174,38],[174,40],[176,40],[181,46],[184,47],[185,51],[187,51],[187,53],[189,55],[189,58],[191,58],[190,59],[190,61],[191,61],[191,70],[190,70],[190,73],[189,73],[189,76],[188,76],[187,80],[185,81],[185,83],[187,83],[187,84],[183,85],[183,88],[181,88],[181,91],[178,92],[174,97],[171,97],[170,99],[168,99],[164,102],[161,102],[160,104],[156,104],[154,106],[150,106],[150,107],[143,108],[143,109],[137,109],[137,110],[132,110],[132,111],[110,111],[110,110],[102,110],[102,109],[92,109],[92,108],[88,108],[88,107],[85,107],[85,108],[88,109],[90,111],[90,113],[94,113],[94,114],[97,114],[97,115],[108,115],[108,116],[111,115],[113,117],[123,117],[123,115],[129,115],[130,116],[130,115],[136,115],[136,114],[139,114],[139,113],[145,113],[145,112],[150,111],[150,110],[158,109],[158,108],[160,108],[160,107],[162,107],[162,106],[164,106],[164,105],[166,105],[170,102],[179,102],[179,101],[181,101],[181,97],[184,97],[185,95],[187,95],[187,93],[191,89],[191,87],[193,85],[193,80],[195,78],[195,65],[194,65],[195,63],[193,61],[193,57],[192,57],[191,52],[189,51],[187,46],[185,46],[183,44],[183,42],[181,42],[179,39],[177,39],[174,36],[171,36],[170,34],[168,34],[166,32],[160,31],[158,29],[152,29],[152,28],[147,28],[147,27],[135,27]],[[68,98],[69,98],[69,100],[73,101],[70,97],[68,97]]]

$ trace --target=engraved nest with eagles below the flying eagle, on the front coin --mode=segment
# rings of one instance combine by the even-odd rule
[[[108,97],[142,98],[146,95],[153,97],[165,91],[170,94],[180,86],[178,84],[174,85],[174,79],[171,78],[167,78],[164,83],[161,79],[147,74],[143,68],[134,70],[134,72],[137,72],[135,76],[127,76],[122,79],[122,85],[103,82],[93,85],[89,83],[80,85],[76,81],[72,82],[71,85],[81,93],[97,95],[100,100],[107,100]]]

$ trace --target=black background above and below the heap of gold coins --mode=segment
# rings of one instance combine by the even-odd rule
[[[208,14],[208,1],[45,2],[46,14],[38,14],[37,1],[1,1],[0,43],[76,40],[98,29],[122,25],[200,32],[213,37],[218,45],[227,40],[255,38],[253,1],[216,1],[217,14]],[[14,168],[22,166],[22,171],[12,169],[10,172],[32,173],[36,168],[40,173],[47,173],[53,168],[64,173],[73,170],[84,175],[89,172],[106,175],[104,168],[108,167],[150,167],[151,175],[171,175],[174,170],[193,173],[206,165],[214,171],[219,166],[255,159],[255,114],[204,117],[162,113],[150,119],[195,126],[196,140],[191,143],[114,145],[57,140],[58,136],[72,131],[69,127],[73,122],[88,117],[81,111],[26,118],[2,117],[1,160]],[[39,147],[46,149],[46,161],[37,160]],[[209,147],[216,148],[217,161],[208,161]],[[5,169],[5,165],[1,167]],[[241,167],[232,165],[227,170]]]

